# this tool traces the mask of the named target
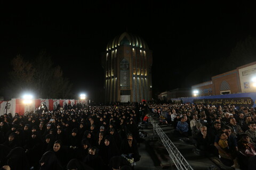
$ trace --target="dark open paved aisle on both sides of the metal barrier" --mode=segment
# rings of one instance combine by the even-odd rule
[[[158,122],[158,118],[154,118]],[[167,136],[174,143],[175,147],[179,149],[183,157],[188,161],[188,163],[196,170],[200,169],[230,169],[228,167],[222,166],[217,161],[217,164],[213,162],[210,158],[199,156],[193,152],[195,148],[194,145],[189,145],[178,138],[173,137],[173,128],[171,126],[159,125],[162,130],[167,134]],[[140,143],[139,152],[141,159],[137,162],[134,167],[135,170],[143,169],[177,169],[172,163],[168,152],[162,144],[162,141],[156,136],[153,138],[153,126],[149,124],[148,129],[143,129],[143,131],[148,133],[143,143]],[[217,159],[216,159],[217,160]],[[211,167],[211,168],[210,168]],[[214,168],[213,168],[214,167]],[[232,169],[232,168],[231,168]]]

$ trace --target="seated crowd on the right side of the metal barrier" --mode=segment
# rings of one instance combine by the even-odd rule
[[[237,169],[256,169],[255,108],[205,104],[149,106],[159,123],[172,126],[173,135],[196,146],[195,152],[217,156]]]

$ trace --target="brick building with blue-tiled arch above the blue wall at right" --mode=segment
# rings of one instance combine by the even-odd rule
[[[211,81],[195,84],[191,87],[191,91],[194,96],[256,92],[256,62],[215,75]],[[198,93],[194,93],[194,91]]]

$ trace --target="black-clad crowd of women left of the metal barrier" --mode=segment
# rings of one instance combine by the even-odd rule
[[[2,169],[132,169],[140,160],[146,103],[40,106],[0,116]]]

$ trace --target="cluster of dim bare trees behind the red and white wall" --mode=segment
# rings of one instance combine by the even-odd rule
[[[8,97],[33,91],[37,98],[70,98],[72,84],[63,77],[60,66],[53,67],[51,56],[39,53],[35,62],[25,61],[21,55],[11,61],[10,81],[2,90]]]

